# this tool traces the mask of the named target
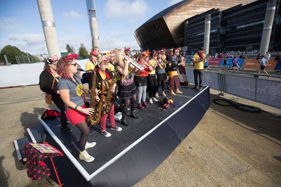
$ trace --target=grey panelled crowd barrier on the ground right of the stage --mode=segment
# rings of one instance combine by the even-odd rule
[[[185,68],[185,70],[187,79],[194,84],[193,69]],[[281,108],[281,82],[273,79],[245,77],[223,71],[204,71],[203,84],[222,93],[230,93],[251,101]]]

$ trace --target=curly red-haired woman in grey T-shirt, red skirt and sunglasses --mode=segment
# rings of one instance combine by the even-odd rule
[[[60,82],[58,82],[58,91],[65,103],[67,119],[81,131],[79,138],[79,159],[92,162],[95,158],[89,155],[86,149],[96,146],[96,142],[87,142],[90,128],[86,123],[86,116],[91,115],[94,110],[85,106],[82,95],[84,91],[83,84],[81,84],[81,80],[76,74],[77,58],[77,54],[69,54],[62,56],[58,60],[57,72],[61,77]]]

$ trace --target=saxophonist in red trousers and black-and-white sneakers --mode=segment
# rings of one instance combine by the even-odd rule
[[[110,70],[107,69],[107,65],[109,63],[108,56],[100,56],[98,57],[98,68],[96,70],[96,89],[98,90],[98,98],[97,101],[100,102],[100,99],[107,98],[108,91],[112,91],[112,96],[115,93],[115,88],[117,84],[115,83],[115,79],[113,74]],[[103,134],[105,137],[110,137],[111,134],[106,130],[106,119],[107,116],[110,118],[110,129],[115,131],[122,131],[121,127],[117,127],[115,125],[115,105],[114,103],[107,103],[112,104],[111,110],[108,114],[101,114],[100,117],[100,133]]]

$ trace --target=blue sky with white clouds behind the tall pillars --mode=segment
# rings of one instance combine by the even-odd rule
[[[139,49],[133,32],[165,8],[181,0],[96,0],[98,34],[103,51]],[[51,0],[60,51],[66,45],[78,53],[80,44],[91,51],[91,30],[85,0]],[[0,50],[6,45],[34,56],[47,53],[36,0],[0,1]]]

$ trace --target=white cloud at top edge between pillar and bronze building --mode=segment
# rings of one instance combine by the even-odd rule
[[[108,0],[105,4],[105,16],[110,20],[123,19],[135,22],[142,18],[144,10],[148,10],[148,5],[143,0],[121,1]]]

